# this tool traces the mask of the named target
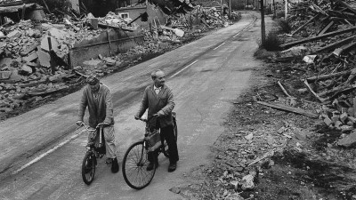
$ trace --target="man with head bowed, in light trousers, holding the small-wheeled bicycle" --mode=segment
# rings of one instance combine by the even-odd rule
[[[105,139],[106,163],[111,164],[111,172],[118,172],[117,156],[115,155],[116,146],[111,93],[106,85],[100,84],[96,76],[91,75],[86,81],[88,85],[85,87],[79,103],[77,125],[83,124],[86,107],[88,107],[89,111],[90,127],[96,127],[101,123],[106,124],[102,130]],[[92,140],[91,135],[89,135],[90,140]],[[96,137],[94,140],[98,141],[99,137]]]

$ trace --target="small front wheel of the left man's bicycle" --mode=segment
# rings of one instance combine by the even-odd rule
[[[96,157],[93,152],[86,152],[82,163],[82,178],[86,185],[90,185],[94,180]]]

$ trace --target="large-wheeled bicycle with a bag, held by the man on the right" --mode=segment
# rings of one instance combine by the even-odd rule
[[[176,114],[175,112],[172,112],[172,114],[174,123],[174,138],[177,140],[178,128],[176,123]],[[154,162],[155,166],[153,167],[153,170],[147,171],[146,169],[148,164],[150,164],[150,161],[148,160],[149,144],[147,139],[147,136],[149,136],[151,133],[149,124],[150,119],[140,118],[142,122],[146,123],[144,138],[134,142],[129,148],[127,148],[123,158],[122,172],[124,180],[129,187],[134,189],[142,189],[147,187],[150,184],[150,181],[153,179],[157,168],[156,162]],[[166,140],[162,140],[161,138],[161,144],[158,148],[158,155],[163,153],[166,157],[169,157],[168,148],[169,147],[166,143]]]

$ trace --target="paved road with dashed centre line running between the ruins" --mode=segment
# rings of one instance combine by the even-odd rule
[[[209,147],[223,132],[223,117],[248,86],[251,70],[261,65],[252,55],[260,37],[257,12],[246,12],[235,25],[101,80],[113,92],[118,160],[142,138],[144,124],[134,120],[150,72],[162,68],[173,88],[180,161],[167,172],[159,157],[148,188],[136,191],[100,160],[91,186],[81,180],[86,134],[75,131],[75,92],[42,108],[0,124],[0,199],[182,199],[170,188],[187,184],[189,172],[209,161]],[[268,21],[267,21],[268,23]]]

